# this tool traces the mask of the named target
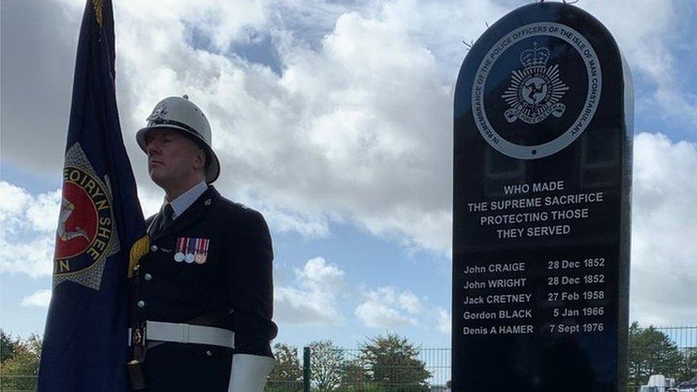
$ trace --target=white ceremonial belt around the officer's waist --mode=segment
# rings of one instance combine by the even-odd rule
[[[209,344],[235,348],[235,333],[225,328],[146,321],[145,331],[147,341]]]

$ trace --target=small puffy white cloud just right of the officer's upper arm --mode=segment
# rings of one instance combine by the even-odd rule
[[[324,258],[312,258],[295,271],[297,286],[274,290],[274,320],[287,324],[333,325],[344,321],[338,297],[344,271]]]

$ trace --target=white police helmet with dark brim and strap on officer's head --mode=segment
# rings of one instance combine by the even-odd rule
[[[189,101],[189,96],[169,96],[155,106],[147,119],[148,125],[136,133],[136,141],[147,153],[147,135],[152,129],[177,129],[191,136],[206,149],[206,182],[211,184],[220,174],[220,162],[213,151],[211,126],[199,106]]]

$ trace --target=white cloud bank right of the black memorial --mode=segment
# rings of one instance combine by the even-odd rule
[[[697,145],[663,134],[634,141],[631,318],[697,323]]]

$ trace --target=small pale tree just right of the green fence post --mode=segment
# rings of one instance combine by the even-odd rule
[[[329,340],[309,344],[310,378],[317,391],[332,391],[341,384],[344,375],[344,354]]]

